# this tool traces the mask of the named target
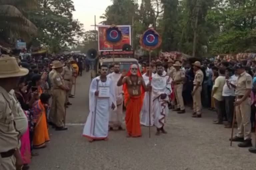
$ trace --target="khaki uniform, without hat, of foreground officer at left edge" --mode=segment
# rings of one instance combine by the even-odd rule
[[[14,122],[15,100],[0,87],[0,169],[16,170],[14,152],[19,145],[19,132]]]

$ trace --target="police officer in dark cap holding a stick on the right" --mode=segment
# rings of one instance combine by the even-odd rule
[[[238,133],[232,141],[243,142],[239,143],[239,147],[250,147],[251,142],[251,90],[252,90],[252,76],[246,73],[242,64],[235,66],[237,70],[238,79],[235,87],[236,101],[234,102],[236,111],[236,121]],[[230,139],[231,140],[231,139]]]

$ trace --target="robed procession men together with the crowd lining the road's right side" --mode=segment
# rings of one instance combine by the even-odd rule
[[[91,82],[83,136],[90,142],[108,140],[109,130],[124,130],[123,104],[127,137],[141,136],[141,126],[155,126],[156,135],[166,134],[169,109],[185,114],[187,105],[193,109],[193,118],[202,118],[203,108],[216,112],[214,124],[237,127],[237,134],[229,140],[241,142],[239,147],[251,147],[255,63],[209,59],[191,63],[168,58],[141,62],[141,69],[132,64],[128,72],[120,72],[119,63],[101,65],[100,76]],[[256,152],[255,148],[249,151]]]

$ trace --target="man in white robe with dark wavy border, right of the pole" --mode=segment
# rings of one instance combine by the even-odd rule
[[[156,135],[160,135],[160,131],[164,134],[164,123],[169,113],[168,102],[169,95],[172,92],[172,79],[163,73],[162,63],[156,65],[157,73],[152,78],[152,95],[153,95],[153,112],[155,114],[154,125],[157,128]]]

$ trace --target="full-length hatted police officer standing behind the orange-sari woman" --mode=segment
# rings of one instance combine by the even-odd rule
[[[64,116],[66,91],[69,91],[69,88],[65,85],[64,79],[61,76],[63,66],[60,61],[54,62],[52,66],[56,72],[52,76],[52,105],[50,115],[54,115],[51,121],[54,123],[56,130],[68,129],[64,127]]]

